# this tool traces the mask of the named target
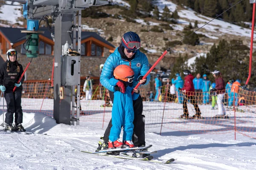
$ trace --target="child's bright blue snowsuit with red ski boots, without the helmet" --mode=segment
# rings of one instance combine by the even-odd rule
[[[131,144],[128,145],[129,147],[133,145],[131,142],[134,129],[133,100],[138,99],[140,92],[133,89],[132,83],[124,82],[115,78],[109,79],[109,83],[113,86],[116,86],[120,81],[125,85],[125,93],[122,93],[121,91],[114,92],[115,97],[112,108],[112,127],[109,135],[109,148],[122,147],[122,142],[119,141],[122,127],[124,145],[128,145],[125,143],[126,141],[129,141]],[[133,90],[135,93],[132,94]],[[113,144],[111,145],[110,142]]]

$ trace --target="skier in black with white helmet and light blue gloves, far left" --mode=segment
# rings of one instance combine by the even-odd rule
[[[7,60],[0,68],[0,90],[6,99],[7,112],[5,119],[5,130],[26,131],[21,125],[23,122],[23,112],[21,107],[23,76],[19,83],[17,81],[23,74],[23,67],[17,62],[17,51],[13,48],[6,52]],[[13,92],[13,88],[16,90]],[[15,113],[15,126],[13,127],[13,113]]]

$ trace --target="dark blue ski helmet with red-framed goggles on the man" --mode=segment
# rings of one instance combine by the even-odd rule
[[[122,45],[131,51],[138,50],[140,48],[140,37],[135,32],[127,32],[122,37]]]

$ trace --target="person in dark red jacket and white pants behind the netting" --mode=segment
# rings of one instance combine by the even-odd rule
[[[226,111],[223,105],[223,98],[225,96],[225,83],[222,79],[221,72],[218,70],[215,70],[212,72],[213,77],[215,78],[216,87],[215,89],[212,89],[213,91],[216,91],[217,94],[217,105],[218,105],[218,115],[216,116],[225,116]]]

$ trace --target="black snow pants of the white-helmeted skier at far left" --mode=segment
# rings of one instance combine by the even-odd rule
[[[13,123],[13,113],[15,113],[15,124],[20,124],[23,121],[23,112],[21,108],[21,89],[16,89],[12,92],[12,89],[6,89],[4,92],[4,98],[6,99],[7,112],[5,122],[8,124]]]

